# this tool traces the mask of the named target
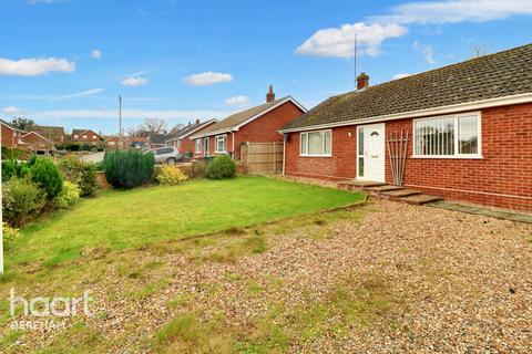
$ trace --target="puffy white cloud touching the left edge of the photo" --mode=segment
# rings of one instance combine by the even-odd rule
[[[0,75],[39,76],[50,72],[71,73],[75,63],[58,58],[29,58],[10,60],[0,58]]]

